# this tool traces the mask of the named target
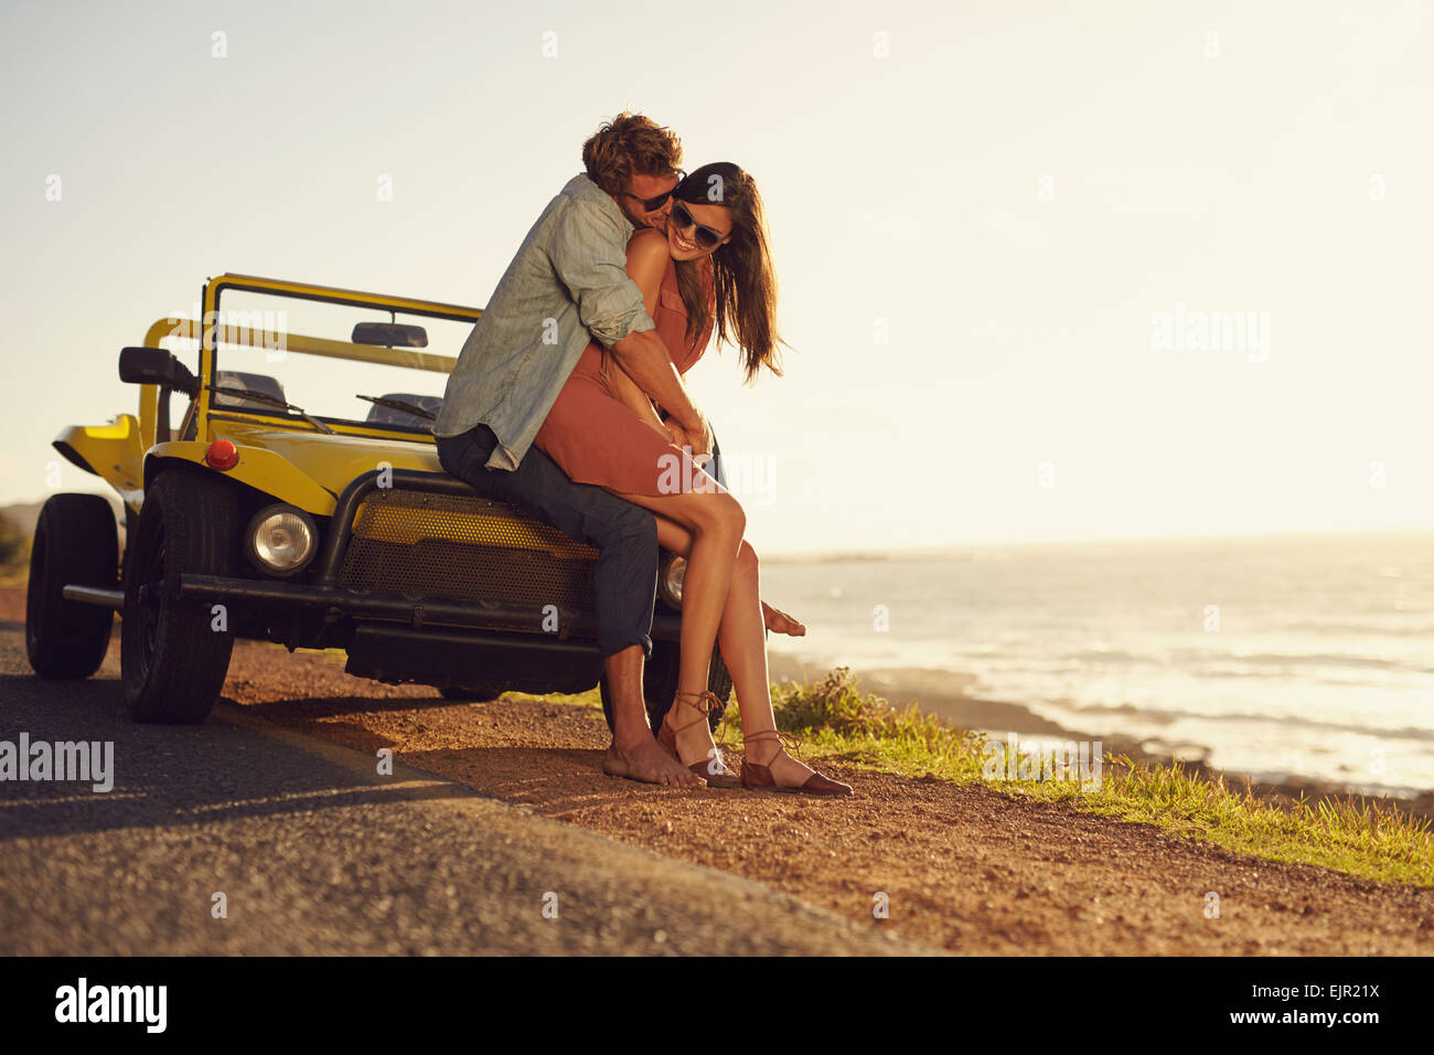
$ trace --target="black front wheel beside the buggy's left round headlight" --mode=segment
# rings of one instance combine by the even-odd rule
[[[224,688],[234,650],[228,622],[179,599],[179,576],[234,571],[238,502],[198,469],[169,469],[145,492],[125,560],[120,675],[136,722],[196,725]]]

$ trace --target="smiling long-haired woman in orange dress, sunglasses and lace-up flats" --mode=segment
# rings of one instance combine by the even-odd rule
[[[761,198],[730,162],[697,169],[673,192],[667,233],[638,231],[628,276],[677,369],[695,363],[713,333],[741,347],[747,379],[776,363],[776,283]],[[792,758],[777,732],[767,682],[764,629],[803,633],[759,596],[757,555],[743,541],[737,500],[688,454],[647,395],[601,344],[592,343],[533,441],[581,484],[597,484],[657,515],[661,545],[687,558],[677,698],[658,739],[708,785],[849,795],[852,788]],[[726,769],[707,715],[723,700],[707,690],[714,640],[737,690],[741,778]]]

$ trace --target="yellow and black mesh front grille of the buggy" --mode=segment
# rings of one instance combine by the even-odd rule
[[[338,586],[591,611],[597,555],[502,502],[379,488],[354,515]]]

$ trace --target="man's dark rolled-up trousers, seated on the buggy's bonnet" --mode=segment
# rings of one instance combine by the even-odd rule
[[[516,469],[489,469],[498,439],[486,425],[457,436],[436,436],[439,464],[478,494],[522,507],[598,551],[594,571],[598,650],[604,659],[634,644],[652,655],[652,597],[657,593],[657,521],[641,505],[591,484],[575,484],[536,446]]]

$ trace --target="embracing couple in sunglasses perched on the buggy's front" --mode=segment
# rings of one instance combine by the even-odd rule
[[[714,330],[740,347],[749,379],[779,372],[757,185],[730,162],[684,174],[678,138],[638,113],[602,125],[582,162],[463,344],[433,423],[439,461],[598,550],[598,647],[614,703],[607,772],[847,795],[777,732],[766,630],[806,630],[763,604],[746,517],[707,472],[711,431],[683,383]],[[677,698],[654,731],[642,665],[658,545],[685,557],[687,574]],[[726,703],[707,690],[714,644],[741,712],[740,777],[708,725]]]

